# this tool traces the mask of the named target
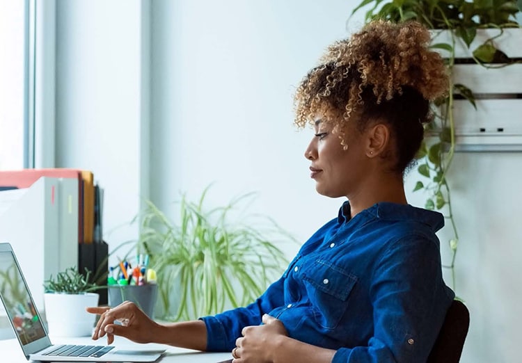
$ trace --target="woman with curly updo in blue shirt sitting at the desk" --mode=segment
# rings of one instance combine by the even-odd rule
[[[414,22],[372,22],[329,47],[303,79],[296,124],[315,127],[311,177],[320,194],[348,201],[258,300],[168,325],[131,302],[93,307],[93,339],[232,350],[235,363],[425,362],[454,298],[435,235],[443,216],[404,195],[429,101],[448,88],[428,42]]]

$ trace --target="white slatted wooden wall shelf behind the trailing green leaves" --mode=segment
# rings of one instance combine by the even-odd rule
[[[470,47],[457,38],[453,82],[470,88],[477,109],[467,99],[454,100],[456,150],[470,152],[522,151],[522,63],[494,69],[475,63],[457,64],[459,58],[472,59],[472,52],[498,29],[480,29]],[[434,31],[433,44],[451,44],[448,31]],[[493,43],[509,58],[522,59],[522,29],[504,29]],[[448,51],[437,49],[447,57]]]

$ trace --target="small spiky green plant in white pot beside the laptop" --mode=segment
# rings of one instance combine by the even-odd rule
[[[49,334],[56,337],[84,337],[92,334],[96,316],[86,312],[86,307],[97,306],[100,296],[93,291],[103,289],[88,282],[77,268],[66,268],[56,277],[45,280],[44,307]]]

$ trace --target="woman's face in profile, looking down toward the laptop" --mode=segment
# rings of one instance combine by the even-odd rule
[[[317,193],[327,197],[354,197],[362,191],[364,179],[370,171],[365,154],[365,137],[349,122],[345,127],[343,150],[333,126],[315,121],[315,136],[306,148],[305,157],[311,161],[310,177],[315,180]]]

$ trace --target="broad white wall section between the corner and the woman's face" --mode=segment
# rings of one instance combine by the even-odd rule
[[[319,197],[308,176],[312,132],[293,126],[292,95],[326,46],[349,34],[351,7],[155,1],[152,200],[168,210],[180,192],[197,198],[212,182],[215,204],[258,191],[252,211],[301,240],[335,216],[341,201]]]

